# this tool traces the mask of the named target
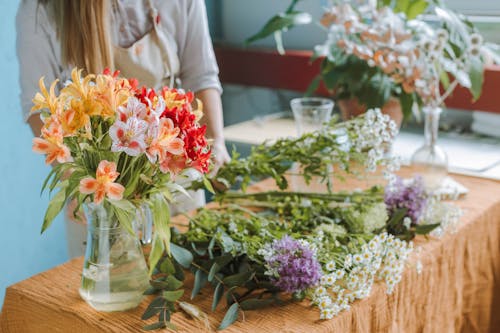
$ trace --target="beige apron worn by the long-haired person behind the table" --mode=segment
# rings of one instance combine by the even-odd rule
[[[122,48],[115,46],[115,66],[120,70],[123,77],[136,78],[140,85],[160,89],[163,86],[173,88],[178,81],[175,76],[179,73],[180,63],[177,56],[176,42],[174,37],[161,29],[161,20],[158,11],[149,2],[153,28],[130,47]],[[199,177],[195,170],[187,170],[185,177],[180,178],[177,183],[187,185],[193,179]],[[174,196],[171,205],[171,214],[194,210],[205,205],[205,193],[200,191],[189,191],[191,198],[183,194]],[[151,226],[138,226],[143,234],[143,242],[148,243],[151,238]],[[82,256],[85,253],[85,242],[87,239],[87,227],[81,223],[74,223],[66,219],[66,233],[68,240],[68,253],[70,258]]]

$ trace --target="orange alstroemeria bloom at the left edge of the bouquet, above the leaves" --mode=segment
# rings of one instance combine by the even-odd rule
[[[50,126],[42,129],[42,137],[33,139],[33,151],[46,154],[45,163],[51,164],[55,160],[59,163],[71,162],[71,152],[63,143],[61,125],[52,122]]]

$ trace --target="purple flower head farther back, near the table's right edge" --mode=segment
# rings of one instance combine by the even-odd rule
[[[418,224],[427,204],[422,177],[417,176],[409,183],[397,177],[386,188],[384,201],[389,215],[397,209],[408,208],[406,216],[411,218],[412,223]]]

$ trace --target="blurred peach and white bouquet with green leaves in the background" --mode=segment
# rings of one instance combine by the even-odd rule
[[[248,42],[273,33],[281,36],[313,21],[307,12],[295,9],[299,2],[292,0],[285,13],[273,17]],[[314,47],[313,59],[322,58],[321,71],[307,93],[323,82],[341,101],[341,110],[356,106],[357,110],[345,113],[385,109],[392,99],[408,116],[415,105],[440,106],[457,85],[477,99],[484,63],[498,59],[466,18],[439,2],[334,3],[317,20],[327,35],[324,43]],[[309,19],[297,19],[304,16]],[[281,37],[276,42],[284,52]]]

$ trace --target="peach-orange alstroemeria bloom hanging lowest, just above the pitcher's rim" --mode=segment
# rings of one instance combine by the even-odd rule
[[[114,183],[119,175],[120,173],[116,172],[116,163],[103,160],[97,167],[96,178],[86,177],[80,180],[80,193],[94,193],[95,204],[101,203],[104,196],[112,200],[121,200],[125,187]]]

